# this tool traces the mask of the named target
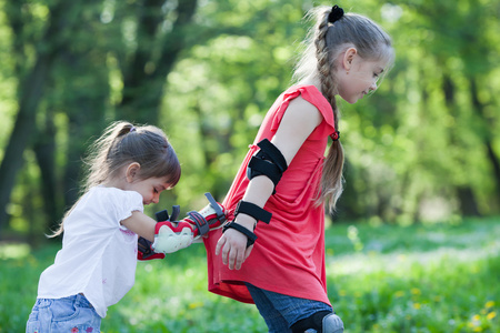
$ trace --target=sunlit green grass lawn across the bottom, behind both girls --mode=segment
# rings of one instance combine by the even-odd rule
[[[330,300],[346,332],[500,332],[500,219],[459,224],[333,225]],[[59,244],[0,245],[0,332],[23,332],[40,273]],[[110,332],[266,332],[253,305],[207,292],[204,249],[138,264]]]

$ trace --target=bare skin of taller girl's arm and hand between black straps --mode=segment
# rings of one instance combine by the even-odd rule
[[[283,154],[288,165],[306,139],[321,123],[321,120],[322,115],[318,109],[301,97],[290,102],[280,127],[271,140]],[[243,201],[263,208],[273,189],[274,184],[266,175],[252,178],[243,195]],[[234,222],[252,231],[256,219],[240,213]],[[247,236],[244,234],[234,229],[228,229],[217,243],[216,255],[221,253],[223,264],[227,264],[230,270],[239,270],[252,249],[253,246],[247,248]]]

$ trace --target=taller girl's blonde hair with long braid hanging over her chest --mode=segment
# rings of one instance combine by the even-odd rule
[[[307,20],[316,20],[314,27],[306,39],[306,49],[299,59],[293,79],[300,82],[307,79],[319,81],[321,92],[333,109],[336,131],[339,131],[340,112],[336,101],[338,64],[337,58],[350,47],[354,47],[364,60],[393,61],[391,38],[370,19],[344,13],[333,23],[329,21],[331,7],[317,7],[306,16]],[[387,70],[386,70],[387,72]],[[318,204],[328,203],[330,212],[343,190],[343,148],[340,140],[330,145],[323,165]]]

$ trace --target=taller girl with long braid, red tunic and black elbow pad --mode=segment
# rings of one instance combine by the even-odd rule
[[[342,192],[336,97],[356,103],[374,91],[393,58],[371,20],[338,6],[311,14],[299,83],[269,110],[236,175],[222,203],[232,221],[206,240],[209,290],[256,303],[269,332],[343,332],[324,264],[323,203],[333,210]]]

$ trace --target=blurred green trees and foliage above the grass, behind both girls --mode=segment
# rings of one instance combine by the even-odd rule
[[[66,29],[47,34],[61,3],[56,22]],[[160,125],[182,162],[181,181],[151,213],[201,208],[206,191],[221,201],[260,121],[291,83],[304,12],[321,3],[330,4],[1,0],[2,168],[14,163],[4,157],[33,83],[28,74],[53,53],[30,140],[17,150],[13,186],[1,186],[2,234],[41,234],[58,222],[76,199],[89,140],[116,119]],[[397,60],[377,93],[341,103],[347,182],[333,219],[410,224],[499,213],[500,3],[339,4],[379,22]]]

